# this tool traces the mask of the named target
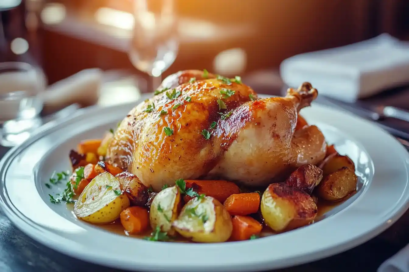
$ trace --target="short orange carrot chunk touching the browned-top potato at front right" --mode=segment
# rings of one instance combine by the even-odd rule
[[[230,215],[249,215],[258,211],[260,194],[246,192],[229,196],[223,204]]]

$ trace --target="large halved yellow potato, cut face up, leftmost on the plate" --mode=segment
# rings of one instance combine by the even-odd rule
[[[74,214],[90,223],[110,223],[129,207],[129,199],[124,195],[117,178],[103,172],[84,188],[74,205]]]

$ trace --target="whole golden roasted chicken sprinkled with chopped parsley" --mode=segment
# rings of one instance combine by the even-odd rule
[[[239,78],[189,70],[167,77],[156,93],[128,113],[106,155],[156,191],[210,177],[267,186],[325,157],[316,126],[295,131],[299,110],[318,95],[309,83],[258,99]]]

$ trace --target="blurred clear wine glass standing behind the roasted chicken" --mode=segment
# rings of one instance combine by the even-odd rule
[[[135,24],[129,58],[136,69],[151,76],[148,90],[161,83],[161,75],[178,53],[178,22],[174,0],[133,0]]]

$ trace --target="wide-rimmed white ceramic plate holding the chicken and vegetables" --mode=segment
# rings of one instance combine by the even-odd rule
[[[97,228],[76,219],[65,204],[50,203],[48,194],[63,185],[49,189],[45,183],[54,170],[70,168],[68,151],[82,139],[101,137],[132,107],[79,111],[7,153],[0,162],[0,200],[10,220],[50,248],[113,268],[225,272],[283,268],[337,254],[379,234],[408,208],[407,151],[374,124],[315,104],[302,115],[353,159],[359,184],[356,195],[310,226],[240,242],[152,242]]]

